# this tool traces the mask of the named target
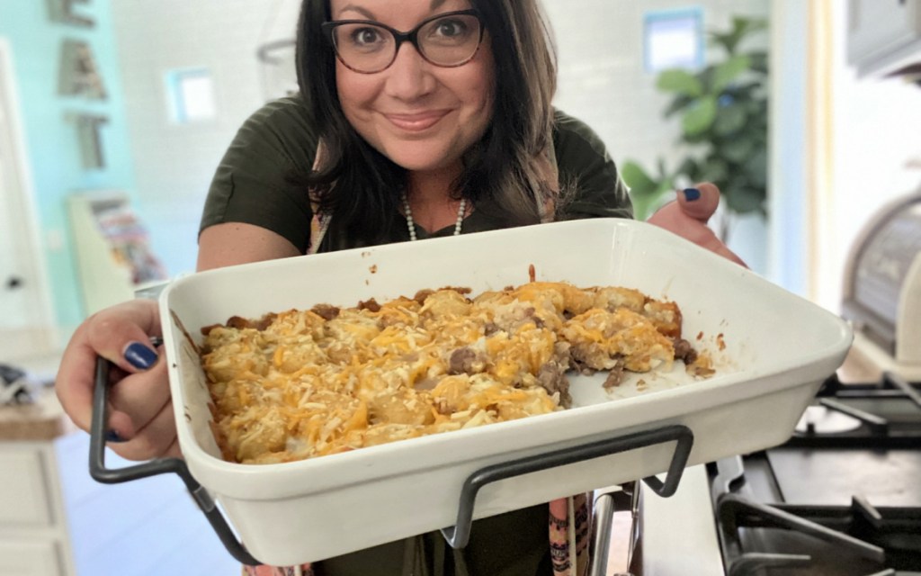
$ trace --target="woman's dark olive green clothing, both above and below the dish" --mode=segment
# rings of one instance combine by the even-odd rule
[[[309,197],[290,178],[309,173],[317,134],[299,97],[275,100],[239,129],[217,168],[204,206],[201,229],[243,222],[273,230],[306,253],[313,213]],[[578,120],[556,112],[554,154],[561,185],[571,191],[558,217],[632,217],[624,182],[598,135]],[[401,214],[390,241],[409,241]],[[461,233],[500,228],[500,222],[473,211]],[[416,227],[417,238],[449,236],[454,226],[431,234]],[[354,247],[331,226],[319,252]],[[431,487],[426,487],[431,489]],[[413,513],[407,510],[406,513]],[[406,538],[318,563],[318,576],[549,576],[549,514],[546,504],[473,523],[463,550],[445,546],[440,533]],[[330,529],[335,529],[331,526]]]

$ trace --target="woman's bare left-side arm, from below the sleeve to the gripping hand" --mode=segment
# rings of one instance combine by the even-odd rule
[[[218,224],[199,238],[198,269],[244,264],[299,254],[279,234],[250,224]],[[64,350],[55,389],[64,411],[89,430],[96,359],[111,368],[109,447],[129,460],[180,456],[169,396],[167,362],[151,346],[160,336],[157,303],[131,300],[87,318]]]

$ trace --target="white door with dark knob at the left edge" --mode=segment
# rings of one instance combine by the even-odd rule
[[[11,63],[0,38],[0,362],[40,355],[52,338]]]

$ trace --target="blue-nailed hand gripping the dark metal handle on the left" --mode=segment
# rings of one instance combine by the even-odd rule
[[[167,363],[150,343],[151,336],[161,334],[154,300],[131,300],[98,312],[76,329],[54,384],[64,411],[88,430],[96,359],[111,360],[106,440],[130,460],[180,455]]]

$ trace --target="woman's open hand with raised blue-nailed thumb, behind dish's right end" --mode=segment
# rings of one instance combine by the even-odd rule
[[[662,206],[648,222],[678,234],[698,246],[745,266],[741,258],[717,238],[706,222],[719,206],[719,189],[709,183],[698,184],[678,193],[675,202]],[[747,267],[747,266],[746,266]]]

